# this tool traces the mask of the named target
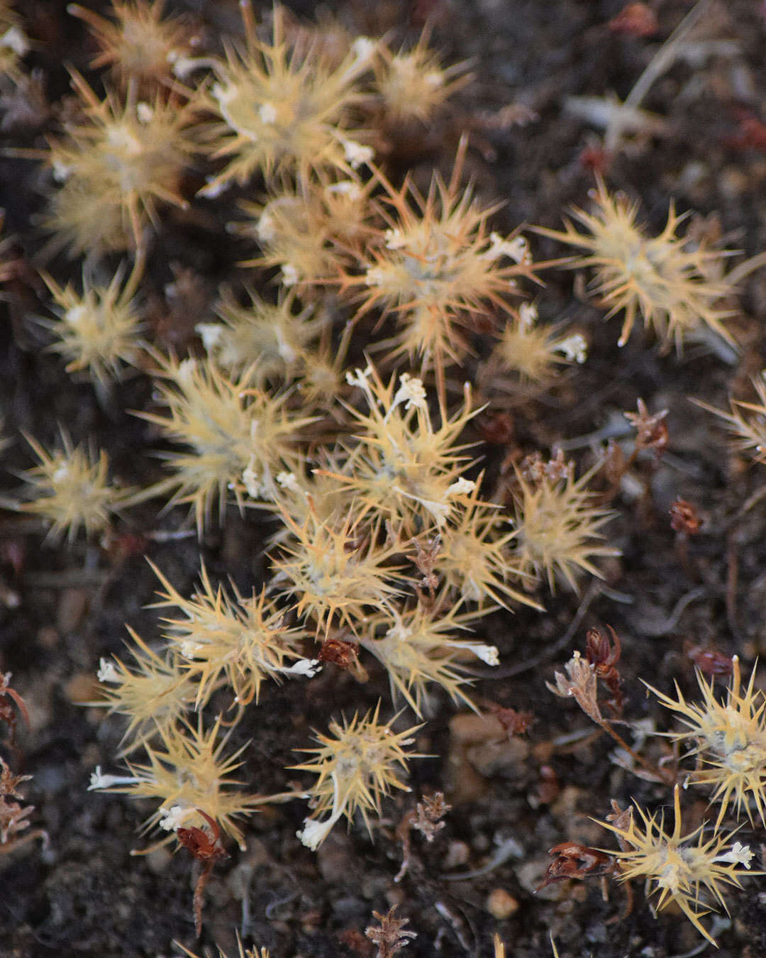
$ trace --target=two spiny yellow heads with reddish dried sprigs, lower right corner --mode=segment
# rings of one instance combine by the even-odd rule
[[[728,912],[727,886],[742,887],[742,878],[751,872],[755,852],[735,834],[744,824],[754,824],[755,813],[764,822],[766,798],[766,696],[755,689],[755,669],[742,689],[739,660],[729,663],[732,678],[723,699],[715,694],[714,679],[697,671],[702,698],[687,702],[676,684],[676,697],[649,687],[650,691],[675,713],[682,728],[664,733],[675,742],[687,745],[683,759],[694,757],[693,768],[678,764],[652,764],[621,737],[624,695],[618,668],[620,642],[612,632],[609,638],[592,630],[588,634],[586,657],[578,651],[566,665],[566,673],[555,673],[549,688],[557,696],[574,700],[622,750],[622,764],[642,778],[673,787],[673,828],[665,828],[665,811],[648,812],[638,803],[635,808],[620,809],[612,803],[612,813],[600,824],[613,833],[619,850],[586,849],[563,843],[551,850],[557,855],[548,870],[546,884],[560,878],[586,878],[589,875],[613,875],[625,882],[642,878],[647,894],[656,895],[654,908],[662,911],[675,904],[694,927],[716,945],[701,919],[718,906]],[[725,672],[726,663],[716,663],[716,671]],[[712,670],[711,670],[712,671]],[[606,703],[611,713],[604,716],[598,701],[599,681],[607,685],[613,698]],[[686,831],[681,811],[680,786],[707,786],[710,804],[718,804],[714,823],[703,822]],[[727,811],[733,810],[739,825],[725,830]],[[575,864],[577,863],[577,864]],[[582,863],[582,864],[579,864]],[[760,875],[753,871],[751,874]]]

